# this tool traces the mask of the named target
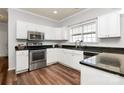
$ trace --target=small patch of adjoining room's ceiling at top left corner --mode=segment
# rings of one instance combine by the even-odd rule
[[[6,23],[8,21],[8,12],[6,8],[0,8],[0,22]]]

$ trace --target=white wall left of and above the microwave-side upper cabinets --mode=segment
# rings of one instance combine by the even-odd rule
[[[41,25],[57,26],[57,23],[54,21],[20,12],[12,8],[8,9],[9,70],[15,69],[16,20],[22,20]]]

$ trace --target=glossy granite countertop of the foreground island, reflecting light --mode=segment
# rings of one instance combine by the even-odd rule
[[[124,54],[100,53],[80,64],[124,76]]]

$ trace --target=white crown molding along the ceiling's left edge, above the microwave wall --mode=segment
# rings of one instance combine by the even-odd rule
[[[54,19],[51,19],[51,18],[48,18],[48,17],[45,17],[45,16],[41,16],[41,15],[26,11],[26,10],[22,10],[22,9],[19,9],[19,8],[13,8],[13,9],[16,10],[16,11],[19,11],[19,12],[27,13],[27,14],[30,14],[30,15],[33,15],[33,16],[36,16],[36,17],[41,17],[43,19],[59,23],[59,21],[57,21],[57,20],[54,20]]]

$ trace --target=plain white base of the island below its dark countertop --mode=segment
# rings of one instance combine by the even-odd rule
[[[81,85],[121,85],[124,77],[98,70],[85,65],[81,66]]]

